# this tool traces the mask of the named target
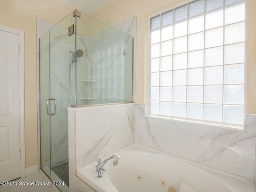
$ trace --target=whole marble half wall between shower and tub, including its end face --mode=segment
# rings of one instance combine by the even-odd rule
[[[134,144],[135,104],[68,108],[70,191],[93,191],[76,170]]]

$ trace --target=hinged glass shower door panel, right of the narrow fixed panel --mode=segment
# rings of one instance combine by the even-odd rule
[[[50,143],[51,143],[51,180],[64,181],[68,186],[68,113],[71,106],[71,70],[76,69],[76,52],[71,48],[68,36],[71,14],[58,22],[49,32],[50,42]],[[74,36],[74,35],[73,35]],[[62,169],[62,173],[57,169]],[[64,186],[59,186],[62,190]]]

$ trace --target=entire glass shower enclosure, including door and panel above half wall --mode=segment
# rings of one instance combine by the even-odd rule
[[[39,39],[40,162],[68,191],[68,107],[133,102],[133,38],[78,10]]]

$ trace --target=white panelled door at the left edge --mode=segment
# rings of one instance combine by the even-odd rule
[[[20,177],[19,36],[0,30],[0,181]]]

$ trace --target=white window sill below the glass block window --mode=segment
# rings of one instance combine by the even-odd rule
[[[194,124],[194,125],[200,125],[200,126],[207,126],[207,127],[235,130],[235,131],[244,131],[244,126],[242,126],[242,125],[241,126],[234,126],[234,125],[227,125],[227,124],[221,124],[221,123],[202,122],[202,121],[196,121],[196,120],[164,117],[164,116],[158,116],[158,115],[152,115],[152,114],[145,114],[144,116],[146,118],[155,118],[155,119],[162,119],[162,120],[181,122],[181,123],[187,123],[187,124]]]

